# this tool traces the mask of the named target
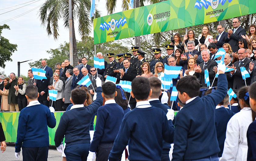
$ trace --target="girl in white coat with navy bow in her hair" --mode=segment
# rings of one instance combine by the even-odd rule
[[[242,87],[238,92],[240,112],[230,118],[221,161],[246,161],[247,160],[247,129],[255,119],[249,103],[249,87]],[[253,119],[254,117],[254,119]]]

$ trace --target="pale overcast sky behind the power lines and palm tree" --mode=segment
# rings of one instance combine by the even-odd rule
[[[24,12],[27,12],[29,10],[34,9],[35,7],[43,4],[45,0],[35,0],[33,4],[30,4],[32,2],[29,2],[32,0],[0,0],[0,14],[4,12],[11,11],[13,9],[22,7],[24,5],[27,5],[25,7],[22,7],[20,9],[16,9],[14,11],[5,13],[0,15],[0,25],[3,25],[3,21],[7,19],[12,19],[15,16],[18,16],[20,14],[23,14]],[[36,2],[38,1],[38,2]],[[29,2],[29,3],[26,3]],[[121,1],[117,4],[116,12],[121,12]],[[23,5],[20,5],[22,3],[26,3]],[[104,0],[96,0],[96,5],[98,5],[98,10],[101,11],[101,16],[107,15],[106,9],[105,9],[105,1]],[[30,5],[28,5],[30,4]],[[99,5],[101,4],[101,5]],[[12,7],[15,5],[19,5],[16,7]],[[9,9],[5,9],[8,7],[12,7]],[[12,54],[12,62],[5,62],[5,69],[1,69],[0,71],[3,72],[9,76],[11,72],[18,75],[18,66],[17,62],[20,61],[26,61],[30,60],[29,62],[33,62],[36,60],[39,60],[41,58],[48,58],[49,55],[46,53],[46,50],[50,49],[56,49],[59,47],[61,43],[64,43],[64,41],[69,42],[69,31],[68,29],[65,29],[63,26],[63,21],[59,21],[59,39],[55,41],[53,39],[53,36],[48,36],[46,33],[46,28],[44,26],[41,26],[41,22],[38,18],[38,11],[39,8],[27,13],[26,15],[20,16],[16,19],[13,19],[9,22],[5,22],[10,27],[10,30],[4,29],[2,32],[2,36],[6,39],[9,39],[10,43],[17,44],[17,51],[15,51]],[[78,26],[77,23],[74,23],[75,25],[75,32],[76,32],[76,39],[81,40],[80,36],[77,32]],[[93,32],[91,35],[93,37]],[[27,70],[30,69],[28,63],[21,63],[20,64],[20,74],[27,75]]]

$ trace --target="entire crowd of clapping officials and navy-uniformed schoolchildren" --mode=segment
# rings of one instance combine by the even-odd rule
[[[109,63],[105,61],[101,70],[87,64],[83,57],[76,67],[69,60],[57,63],[54,72],[42,60],[47,79],[34,79],[30,69],[27,85],[14,73],[10,78],[0,75],[1,110],[21,111],[16,157],[22,147],[25,160],[47,159],[47,125],[56,125],[52,112],[66,111],[54,138],[63,160],[90,161],[95,156],[96,161],[123,160],[127,156],[131,161],[256,160],[255,30],[256,26],[251,25],[246,35],[240,20],[234,18],[233,29],[227,32],[222,25],[217,26],[216,38],[208,26],[203,26],[198,39],[193,30],[188,30],[183,40],[176,33],[174,40],[165,45],[167,56],[162,58],[162,50],[156,48],[150,62],[145,59],[146,53],[133,46],[132,54],[107,53]],[[219,48],[226,51],[225,66],[215,61],[221,59],[215,57]],[[102,59],[103,54],[97,53],[97,57]],[[179,76],[172,80],[179,92],[174,103],[169,101],[172,87],[163,89],[161,83],[165,64],[182,66]],[[234,70],[225,72],[226,67]],[[240,67],[246,68],[250,78],[243,80]],[[213,88],[205,84],[205,69]],[[86,75],[92,84],[78,85]],[[116,77],[116,84],[132,81],[132,92],[104,83],[107,76]],[[237,98],[229,100],[229,88]],[[51,89],[58,91],[53,105],[48,94]],[[28,108],[34,106],[38,106],[36,111]],[[179,111],[176,117],[173,110]],[[38,118],[28,120],[32,113],[44,120],[43,128],[33,128]]]

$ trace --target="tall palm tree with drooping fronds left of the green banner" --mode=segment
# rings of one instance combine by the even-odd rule
[[[78,31],[81,39],[84,40],[91,33],[90,0],[72,0],[72,27],[73,27],[73,62],[77,65],[76,36],[74,30],[74,18],[78,19]],[[96,17],[100,12],[96,10]],[[48,35],[53,35],[57,40],[59,37],[59,19],[63,19],[64,26],[69,28],[69,0],[46,0],[39,10],[39,18],[42,26],[46,26]]]

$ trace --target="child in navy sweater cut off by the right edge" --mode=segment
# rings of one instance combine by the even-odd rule
[[[251,109],[254,111],[252,112],[252,115],[255,118],[256,82],[250,85],[249,95],[250,95],[250,106],[251,106]],[[256,120],[254,120],[248,127],[247,144],[248,144],[247,161],[255,161],[256,160]]]

